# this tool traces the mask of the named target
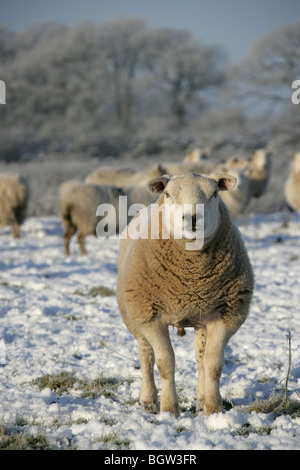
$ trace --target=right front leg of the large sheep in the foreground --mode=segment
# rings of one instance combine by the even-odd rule
[[[219,382],[224,365],[224,349],[231,336],[222,320],[207,324],[204,364],[204,412],[206,415],[222,411]]]

